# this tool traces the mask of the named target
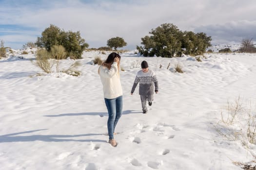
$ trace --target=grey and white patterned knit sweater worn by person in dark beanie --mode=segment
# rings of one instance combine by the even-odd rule
[[[151,69],[149,69],[148,72],[143,72],[142,70],[138,71],[131,93],[134,92],[138,83],[139,83],[139,88],[138,88],[139,95],[154,94],[154,91],[158,90],[157,76],[155,72]],[[155,88],[154,88],[154,85],[155,85]]]

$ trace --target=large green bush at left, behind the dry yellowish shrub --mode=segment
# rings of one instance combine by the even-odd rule
[[[65,48],[67,56],[74,59],[81,58],[82,52],[89,46],[81,38],[80,32],[65,32],[52,24],[41,35],[35,43],[38,47],[51,51],[54,45],[61,45]]]

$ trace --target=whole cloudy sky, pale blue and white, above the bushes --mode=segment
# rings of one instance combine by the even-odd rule
[[[79,31],[89,48],[123,37],[134,50],[141,37],[163,23],[204,32],[212,44],[256,41],[256,0],[0,0],[0,40],[21,49],[50,24]]]

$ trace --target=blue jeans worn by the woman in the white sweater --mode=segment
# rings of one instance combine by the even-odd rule
[[[115,99],[105,99],[105,103],[108,109],[108,136],[109,139],[114,139],[114,132],[118,119],[122,115],[123,109],[123,96],[119,96]]]

